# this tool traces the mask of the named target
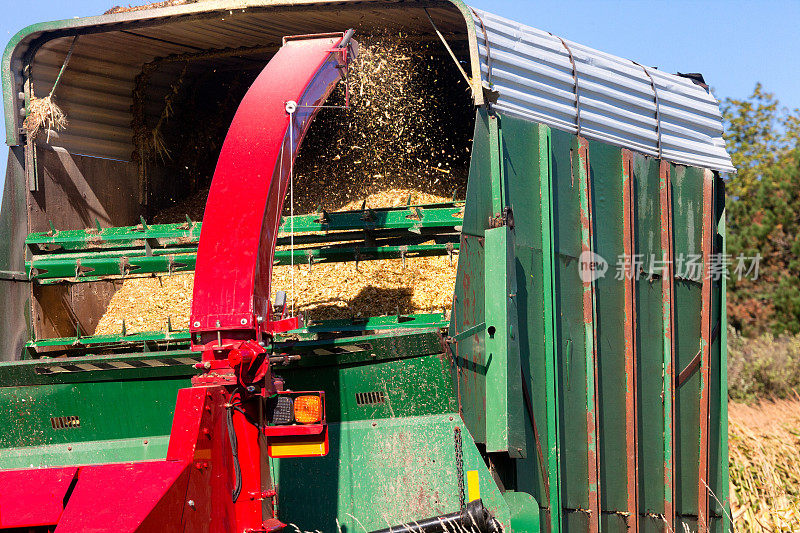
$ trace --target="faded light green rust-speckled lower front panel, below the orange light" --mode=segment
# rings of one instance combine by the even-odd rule
[[[512,531],[509,506],[455,412],[331,424],[326,457],[274,462],[278,517],[304,531],[354,533],[458,511],[454,428],[464,471],[478,471],[484,504]]]

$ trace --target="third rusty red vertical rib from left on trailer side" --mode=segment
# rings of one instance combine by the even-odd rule
[[[675,530],[675,250],[672,232],[670,164],[659,162],[661,203],[661,302],[664,353],[664,531]]]

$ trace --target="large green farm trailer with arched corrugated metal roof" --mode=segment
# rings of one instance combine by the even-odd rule
[[[91,334],[120,280],[202,262],[207,220],[150,223],[180,184],[137,155],[133,126],[158,118],[184,64],[261,68],[287,35],[387,26],[436,43],[430,61],[469,85],[453,105],[468,99],[473,118],[450,124],[470,140],[465,195],[284,217],[303,247],[275,264],[450,255],[452,308],[258,330],[285,391],[324,393],[326,449],[267,458],[264,444],[263,527],[213,518],[228,502],[204,487],[233,475],[214,429],[224,417],[204,430],[222,455],[195,451],[178,495],[164,481],[181,401],[209,371],[207,332]],[[29,135],[32,98],[60,70],[69,125]],[[460,0],[209,0],[31,26],[6,48],[2,80],[0,530],[732,528],[718,264],[732,169],[702,76]],[[337,232],[347,246],[330,245]],[[92,484],[101,467],[125,494]],[[151,494],[159,483],[169,505]],[[109,513],[104,528],[76,519]]]

